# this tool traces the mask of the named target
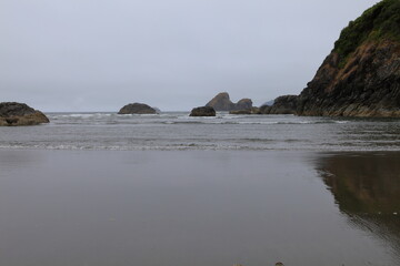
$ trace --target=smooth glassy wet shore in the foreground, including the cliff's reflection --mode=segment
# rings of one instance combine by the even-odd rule
[[[398,162],[398,152],[0,150],[0,265],[399,265]]]

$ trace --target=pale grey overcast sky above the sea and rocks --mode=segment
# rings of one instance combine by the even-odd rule
[[[0,102],[162,111],[299,94],[377,0],[0,0]]]

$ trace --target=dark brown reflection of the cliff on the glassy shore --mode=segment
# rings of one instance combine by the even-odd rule
[[[323,155],[317,168],[349,221],[400,255],[400,153]]]

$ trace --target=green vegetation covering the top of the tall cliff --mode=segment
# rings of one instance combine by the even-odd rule
[[[334,43],[333,51],[340,55],[340,65],[343,66],[348,55],[361,43],[384,39],[400,41],[400,0],[382,0],[350,21]]]

